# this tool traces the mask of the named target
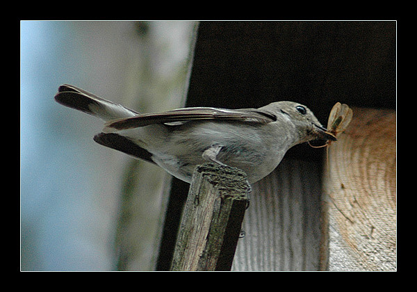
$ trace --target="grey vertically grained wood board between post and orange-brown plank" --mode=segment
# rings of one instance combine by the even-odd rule
[[[252,185],[232,270],[319,270],[321,166],[284,158]]]

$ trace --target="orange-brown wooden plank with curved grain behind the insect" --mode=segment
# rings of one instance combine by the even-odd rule
[[[396,114],[353,108],[329,147],[324,189],[328,270],[396,270]]]

